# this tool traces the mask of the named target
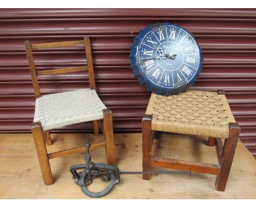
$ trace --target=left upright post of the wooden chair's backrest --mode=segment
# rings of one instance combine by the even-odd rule
[[[39,88],[38,81],[37,81],[37,72],[36,72],[36,68],[34,66],[32,48],[31,48],[31,44],[30,44],[29,40],[25,41],[25,47],[26,47],[26,53],[27,53],[28,66],[30,68],[30,74],[32,77],[34,94],[36,95],[36,98],[38,98],[41,96],[41,93],[40,93],[40,88]]]

